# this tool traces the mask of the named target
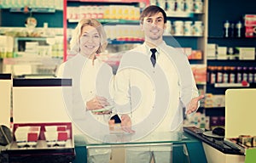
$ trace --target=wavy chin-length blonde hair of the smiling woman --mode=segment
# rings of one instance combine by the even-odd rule
[[[75,53],[80,52],[79,38],[82,34],[81,32],[82,32],[83,27],[86,25],[95,27],[96,31],[98,31],[98,33],[101,37],[100,47],[98,48],[96,53],[104,52],[108,45],[107,35],[106,35],[106,32],[104,31],[102,24],[98,20],[94,20],[94,19],[83,19],[83,20],[79,21],[79,24],[76,26],[76,28],[73,31],[73,37],[70,40],[71,51],[73,51]]]

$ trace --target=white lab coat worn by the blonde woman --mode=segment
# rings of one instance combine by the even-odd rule
[[[72,117],[75,120],[84,119],[86,102],[96,95],[108,99],[113,98],[112,68],[99,59],[95,59],[92,65],[92,59],[77,54],[59,66],[56,76],[72,78]],[[96,118],[96,121],[108,124],[110,115],[91,115]]]

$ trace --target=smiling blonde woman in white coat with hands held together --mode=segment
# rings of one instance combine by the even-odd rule
[[[113,71],[96,58],[107,47],[107,37],[101,23],[83,19],[70,43],[76,55],[60,65],[57,76],[73,79],[73,109],[69,114],[79,129],[88,134],[88,140],[94,141],[91,138],[96,136],[92,133],[102,134],[97,126],[108,126],[111,113]],[[90,149],[89,155],[89,162],[109,162],[110,150]]]

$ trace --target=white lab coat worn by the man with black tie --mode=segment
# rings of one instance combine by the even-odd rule
[[[166,42],[162,42],[157,49],[160,54],[155,67],[151,65],[149,48],[144,43],[123,55],[115,76],[116,111],[131,116],[132,127],[136,132],[147,130],[147,127],[154,127],[154,132],[182,129],[183,108],[189,104],[191,98],[198,96],[187,56],[167,46]],[[158,76],[160,73],[164,75]],[[162,79],[159,80],[159,77]],[[165,85],[165,82],[161,81],[166,81],[167,87],[160,87],[161,91],[157,93],[155,88],[158,87],[154,85],[154,81],[160,85]],[[161,98],[164,98],[164,101],[160,103],[164,105],[156,104]],[[158,115],[157,110],[164,113]],[[150,115],[152,112],[156,114]],[[154,115],[159,121],[153,120]]]

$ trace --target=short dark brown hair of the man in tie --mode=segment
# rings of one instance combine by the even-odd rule
[[[147,8],[143,9],[143,12],[142,12],[142,14],[140,16],[141,24],[143,24],[143,20],[144,20],[145,17],[152,16],[152,15],[158,14],[158,13],[162,13],[163,14],[164,22],[166,23],[167,16],[166,16],[165,10],[163,8],[160,8],[159,6],[150,5]]]

